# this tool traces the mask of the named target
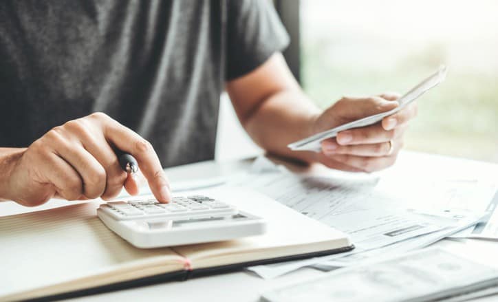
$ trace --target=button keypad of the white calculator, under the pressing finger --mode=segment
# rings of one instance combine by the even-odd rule
[[[186,219],[219,217],[238,213],[233,206],[204,195],[173,197],[169,204],[156,199],[108,202],[100,206],[102,211],[118,220]]]

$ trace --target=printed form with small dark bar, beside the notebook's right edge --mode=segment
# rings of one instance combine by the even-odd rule
[[[374,190],[371,182],[261,173],[246,186],[342,230],[356,248],[370,250],[453,226],[452,219],[406,211],[399,202]]]

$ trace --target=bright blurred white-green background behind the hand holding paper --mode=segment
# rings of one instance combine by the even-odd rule
[[[403,94],[445,64],[446,81],[419,99],[406,149],[498,162],[498,1],[274,4],[292,37],[284,55],[318,106]]]

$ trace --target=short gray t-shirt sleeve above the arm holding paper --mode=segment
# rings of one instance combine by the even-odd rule
[[[226,80],[248,74],[290,42],[271,0],[228,1]]]

